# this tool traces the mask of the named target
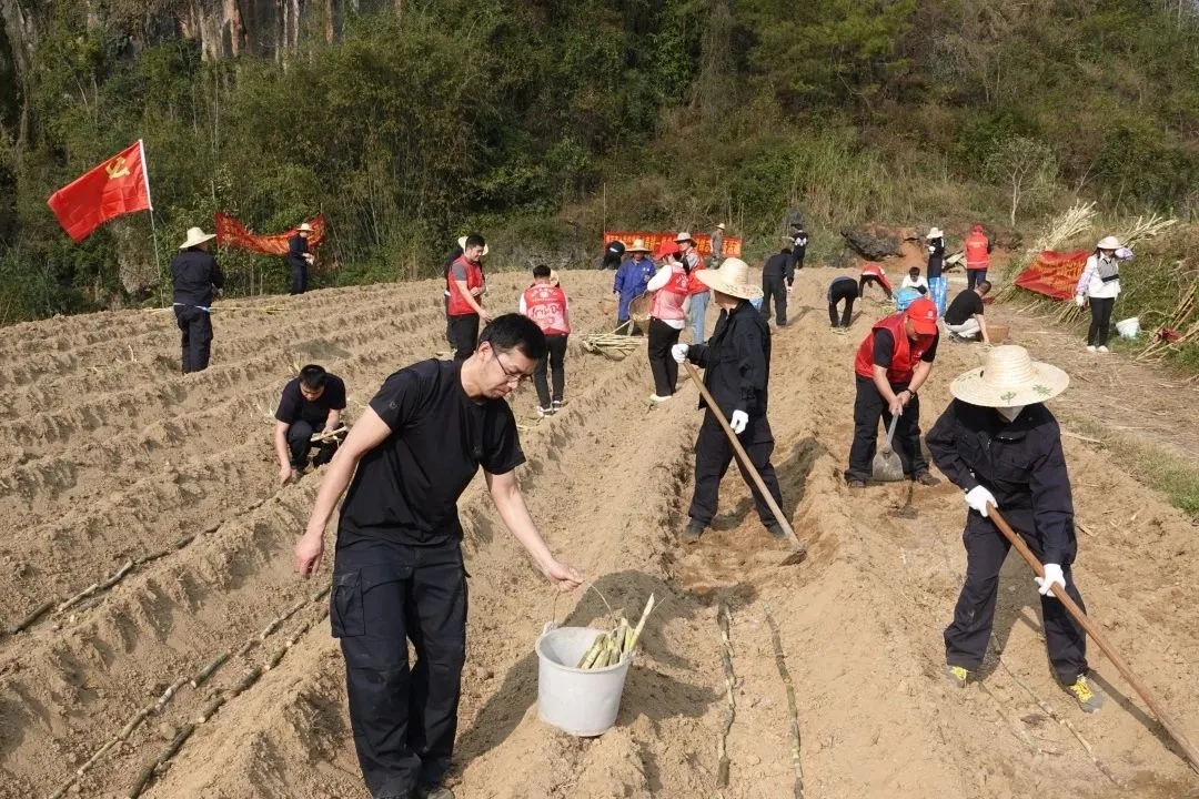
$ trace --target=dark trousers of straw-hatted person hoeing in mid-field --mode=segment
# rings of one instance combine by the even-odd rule
[[[737,436],[749,461],[761,476],[763,483],[775,498],[779,508],[783,507],[783,497],[778,490],[778,478],[775,476],[775,467],[770,464],[770,456],[775,452],[775,436],[770,431],[770,423],[765,416],[749,417],[745,431]],[[691,509],[687,515],[695,521],[707,526],[716,517],[716,509],[719,500],[721,479],[729,470],[729,462],[735,454],[728,435],[721,428],[711,411],[704,412],[704,423],[699,425],[699,435],[695,436],[695,494],[691,498]],[[753,478],[746,471],[741,461],[737,460],[737,468],[746,485],[753,491],[754,507],[758,508],[758,517],[763,523],[775,521],[775,514],[763,498],[761,492],[753,483]]]

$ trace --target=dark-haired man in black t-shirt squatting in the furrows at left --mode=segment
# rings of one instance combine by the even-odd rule
[[[279,459],[279,485],[300,479],[308,468],[308,450],[314,432],[329,435],[342,424],[345,410],[345,383],[323,367],[309,363],[283,387],[279,407],[275,411],[275,454]],[[324,466],[337,452],[337,438],[315,444],[313,466]]]

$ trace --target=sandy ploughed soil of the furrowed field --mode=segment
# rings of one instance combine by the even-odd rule
[[[613,362],[576,340],[562,413],[534,418],[531,387],[516,398],[534,516],[597,591],[555,600],[481,482],[463,496],[472,581],[453,776],[460,798],[791,795],[789,713],[767,609],[795,680],[807,797],[1199,797],[1199,779],[1097,647],[1092,664],[1109,697],[1101,713],[1084,715],[1055,688],[1035,586],[1014,557],[983,682],[958,691],[942,680],[940,634],[964,570],[965,509],[947,484],[921,488],[911,497],[916,517],[903,519],[896,510],[904,485],[855,494],[839,480],[851,436],[852,352],[884,311],[867,301],[848,335],[830,331],[824,292],[833,274],[799,276],[793,325],[775,338],[775,462],[785,510],[811,552],[799,567],[777,565],[784,550],[761,528],[735,472],[716,529],[695,547],[676,543],[700,414],[689,385],[671,402],[649,406],[643,352]],[[514,304],[524,283],[494,277],[493,304]],[[598,311],[610,273],[565,273],[564,285],[580,333],[610,328]],[[189,725],[191,737],[145,795],[367,797],[319,595],[327,571],[314,583],[291,574],[291,544],[320,476],[276,490],[269,417],[295,363],[318,361],[342,375],[353,417],[393,369],[445,351],[440,287],[236,304],[279,310],[217,311],[212,367],[186,377],[176,374],[169,311],[0,331],[0,442],[12,453],[0,464],[0,619],[7,627],[55,603],[25,631],[0,637],[0,797],[60,788],[125,797],[143,765]],[[1043,320],[1002,305],[989,313],[1042,356],[1071,346]],[[978,358],[968,345],[941,347],[922,391],[926,428],[948,401],[948,379]],[[1103,420],[1120,381],[1150,374],[1120,356],[1099,369],[1080,374],[1055,405]],[[1153,418],[1164,419],[1163,431],[1173,424],[1193,434],[1183,408],[1155,406],[1165,416]],[[1195,525],[1085,441],[1065,446],[1078,517],[1090,531],[1076,567],[1087,606],[1199,740]],[[541,724],[532,642],[542,625],[607,624],[601,593],[632,618],[651,592],[661,610],[616,728],[579,740]],[[722,604],[731,613],[737,678],[723,789]],[[224,653],[198,688],[185,683],[155,709],[169,686]],[[222,696],[227,702],[195,724]],[[1085,738],[1102,769],[1047,708]]]

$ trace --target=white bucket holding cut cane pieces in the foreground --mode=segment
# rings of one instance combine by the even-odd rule
[[[580,738],[602,736],[616,721],[631,656],[615,666],[582,670],[574,664],[603,630],[561,627],[537,638],[537,718]]]

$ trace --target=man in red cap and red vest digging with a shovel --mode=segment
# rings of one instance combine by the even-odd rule
[[[857,399],[854,401],[854,443],[849,448],[845,483],[851,489],[866,488],[874,459],[879,419],[890,426],[896,414],[894,444],[903,473],[921,485],[940,480],[928,471],[920,448],[920,398],[916,392],[933,370],[936,358],[936,305],[928,297],[916,299],[908,309],[879,320],[862,339],[854,362]]]

